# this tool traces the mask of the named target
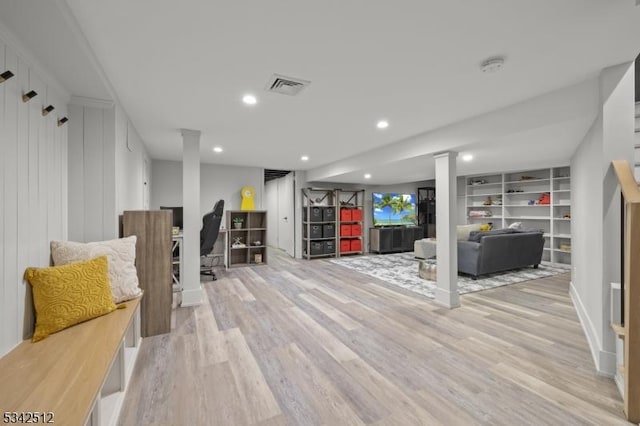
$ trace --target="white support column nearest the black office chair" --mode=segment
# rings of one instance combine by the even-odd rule
[[[183,241],[181,306],[202,303],[200,285],[200,131],[182,129]]]

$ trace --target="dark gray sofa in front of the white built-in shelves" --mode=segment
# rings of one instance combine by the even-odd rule
[[[458,241],[458,272],[475,278],[527,266],[537,268],[543,248],[542,231],[473,231],[467,241]]]

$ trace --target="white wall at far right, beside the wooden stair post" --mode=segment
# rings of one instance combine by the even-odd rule
[[[602,374],[615,373],[609,286],[620,280],[620,189],[612,160],[633,162],[634,67],[602,71],[598,115],[571,160],[571,296]]]

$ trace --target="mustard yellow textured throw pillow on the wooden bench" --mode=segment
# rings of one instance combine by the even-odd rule
[[[24,275],[33,289],[36,308],[34,342],[116,309],[107,256],[64,266],[27,268]]]

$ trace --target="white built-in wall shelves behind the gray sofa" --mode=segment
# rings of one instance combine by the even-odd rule
[[[504,228],[522,222],[525,228],[542,229],[542,260],[571,264],[568,166],[466,176],[465,183],[467,223],[492,222],[494,228]],[[543,194],[549,194],[549,204],[537,204]]]

